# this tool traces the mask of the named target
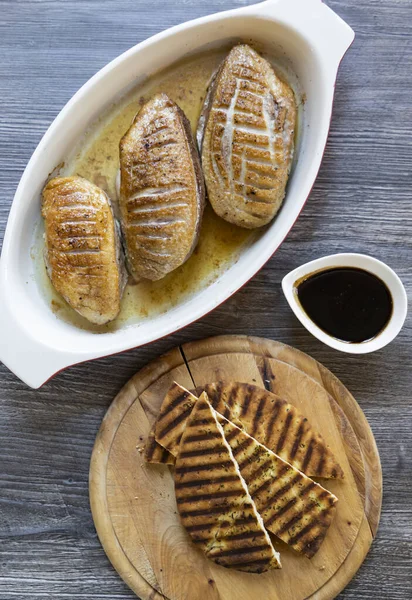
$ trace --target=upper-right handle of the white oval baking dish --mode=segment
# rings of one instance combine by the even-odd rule
[[[353,29],[322,0],[266,0],[253,8],[295,29],[335,72],[355,38]]]

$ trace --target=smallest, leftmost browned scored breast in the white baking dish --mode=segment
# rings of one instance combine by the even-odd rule
[[[109,198],[83,177],[54,177],[43,189],[47,274],[59,294],[91,323],[120,311],[126,270]]]

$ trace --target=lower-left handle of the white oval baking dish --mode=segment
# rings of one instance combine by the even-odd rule
[[[72,355],[47,346],[23,327],[7,299],[0,297],[0,362],[31,388],[39,388],[53,375],[76,362]]]

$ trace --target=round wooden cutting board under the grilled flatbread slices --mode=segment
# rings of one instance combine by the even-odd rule
[[[281,570],[251,575],[219,567],[192,544],[180,524],[172,470],[144,462],[147,435],[171,383],[191,389],[219,380],[265,387],[294,404],[341,464],[343,480],[321,482],[339,502],[311,560],[274,541]],[[370,548],[381,500],[378,451],[353,396],[308,355],[245,336],[186,344],[139,371],[107,411],[90,466],[90,502],[100,541],[142,600],[334,598]]]

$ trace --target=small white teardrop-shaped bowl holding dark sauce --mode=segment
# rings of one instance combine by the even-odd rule
[[[313,273],[335,267],[356,267],[369,271],[388,287],[393,301],[392,316],[386,327],[373,339],[361,343],[343,342],[328,333],[307,316],[297,296],[296,283]],[[332,254],[312,260],[288,273],[282,280],[282,289],[290,308],[304,327],[318,340],[335,350],[350,354],[367,354],[383,348],[398,335],[405,322],[408,299],[402,281],[388,265],[366,254]]]

